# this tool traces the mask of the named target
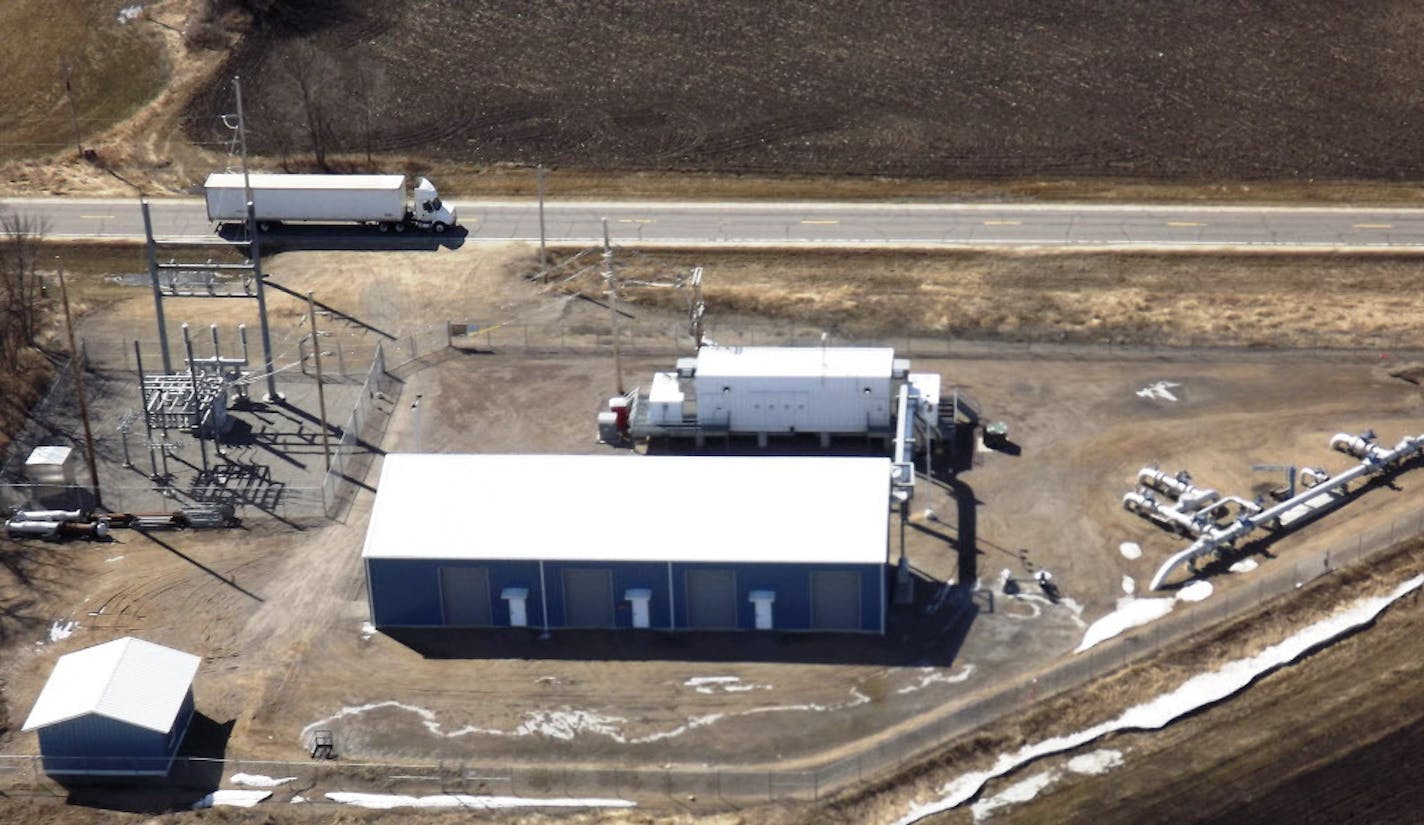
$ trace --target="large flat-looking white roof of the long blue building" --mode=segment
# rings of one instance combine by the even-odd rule
[[[389,455],[366,559],[886,560],[890,460]]]

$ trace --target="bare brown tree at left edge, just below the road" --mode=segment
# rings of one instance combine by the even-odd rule
[[[19,368],[20,352],[38,342],[46,296],[38,262],[48,224],[43,218],[0,212],[0,363]]]

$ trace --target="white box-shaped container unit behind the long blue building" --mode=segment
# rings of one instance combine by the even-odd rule
[[[736,433],[886,432],[896,366],[890,348],[703,346],[698,423]]]

